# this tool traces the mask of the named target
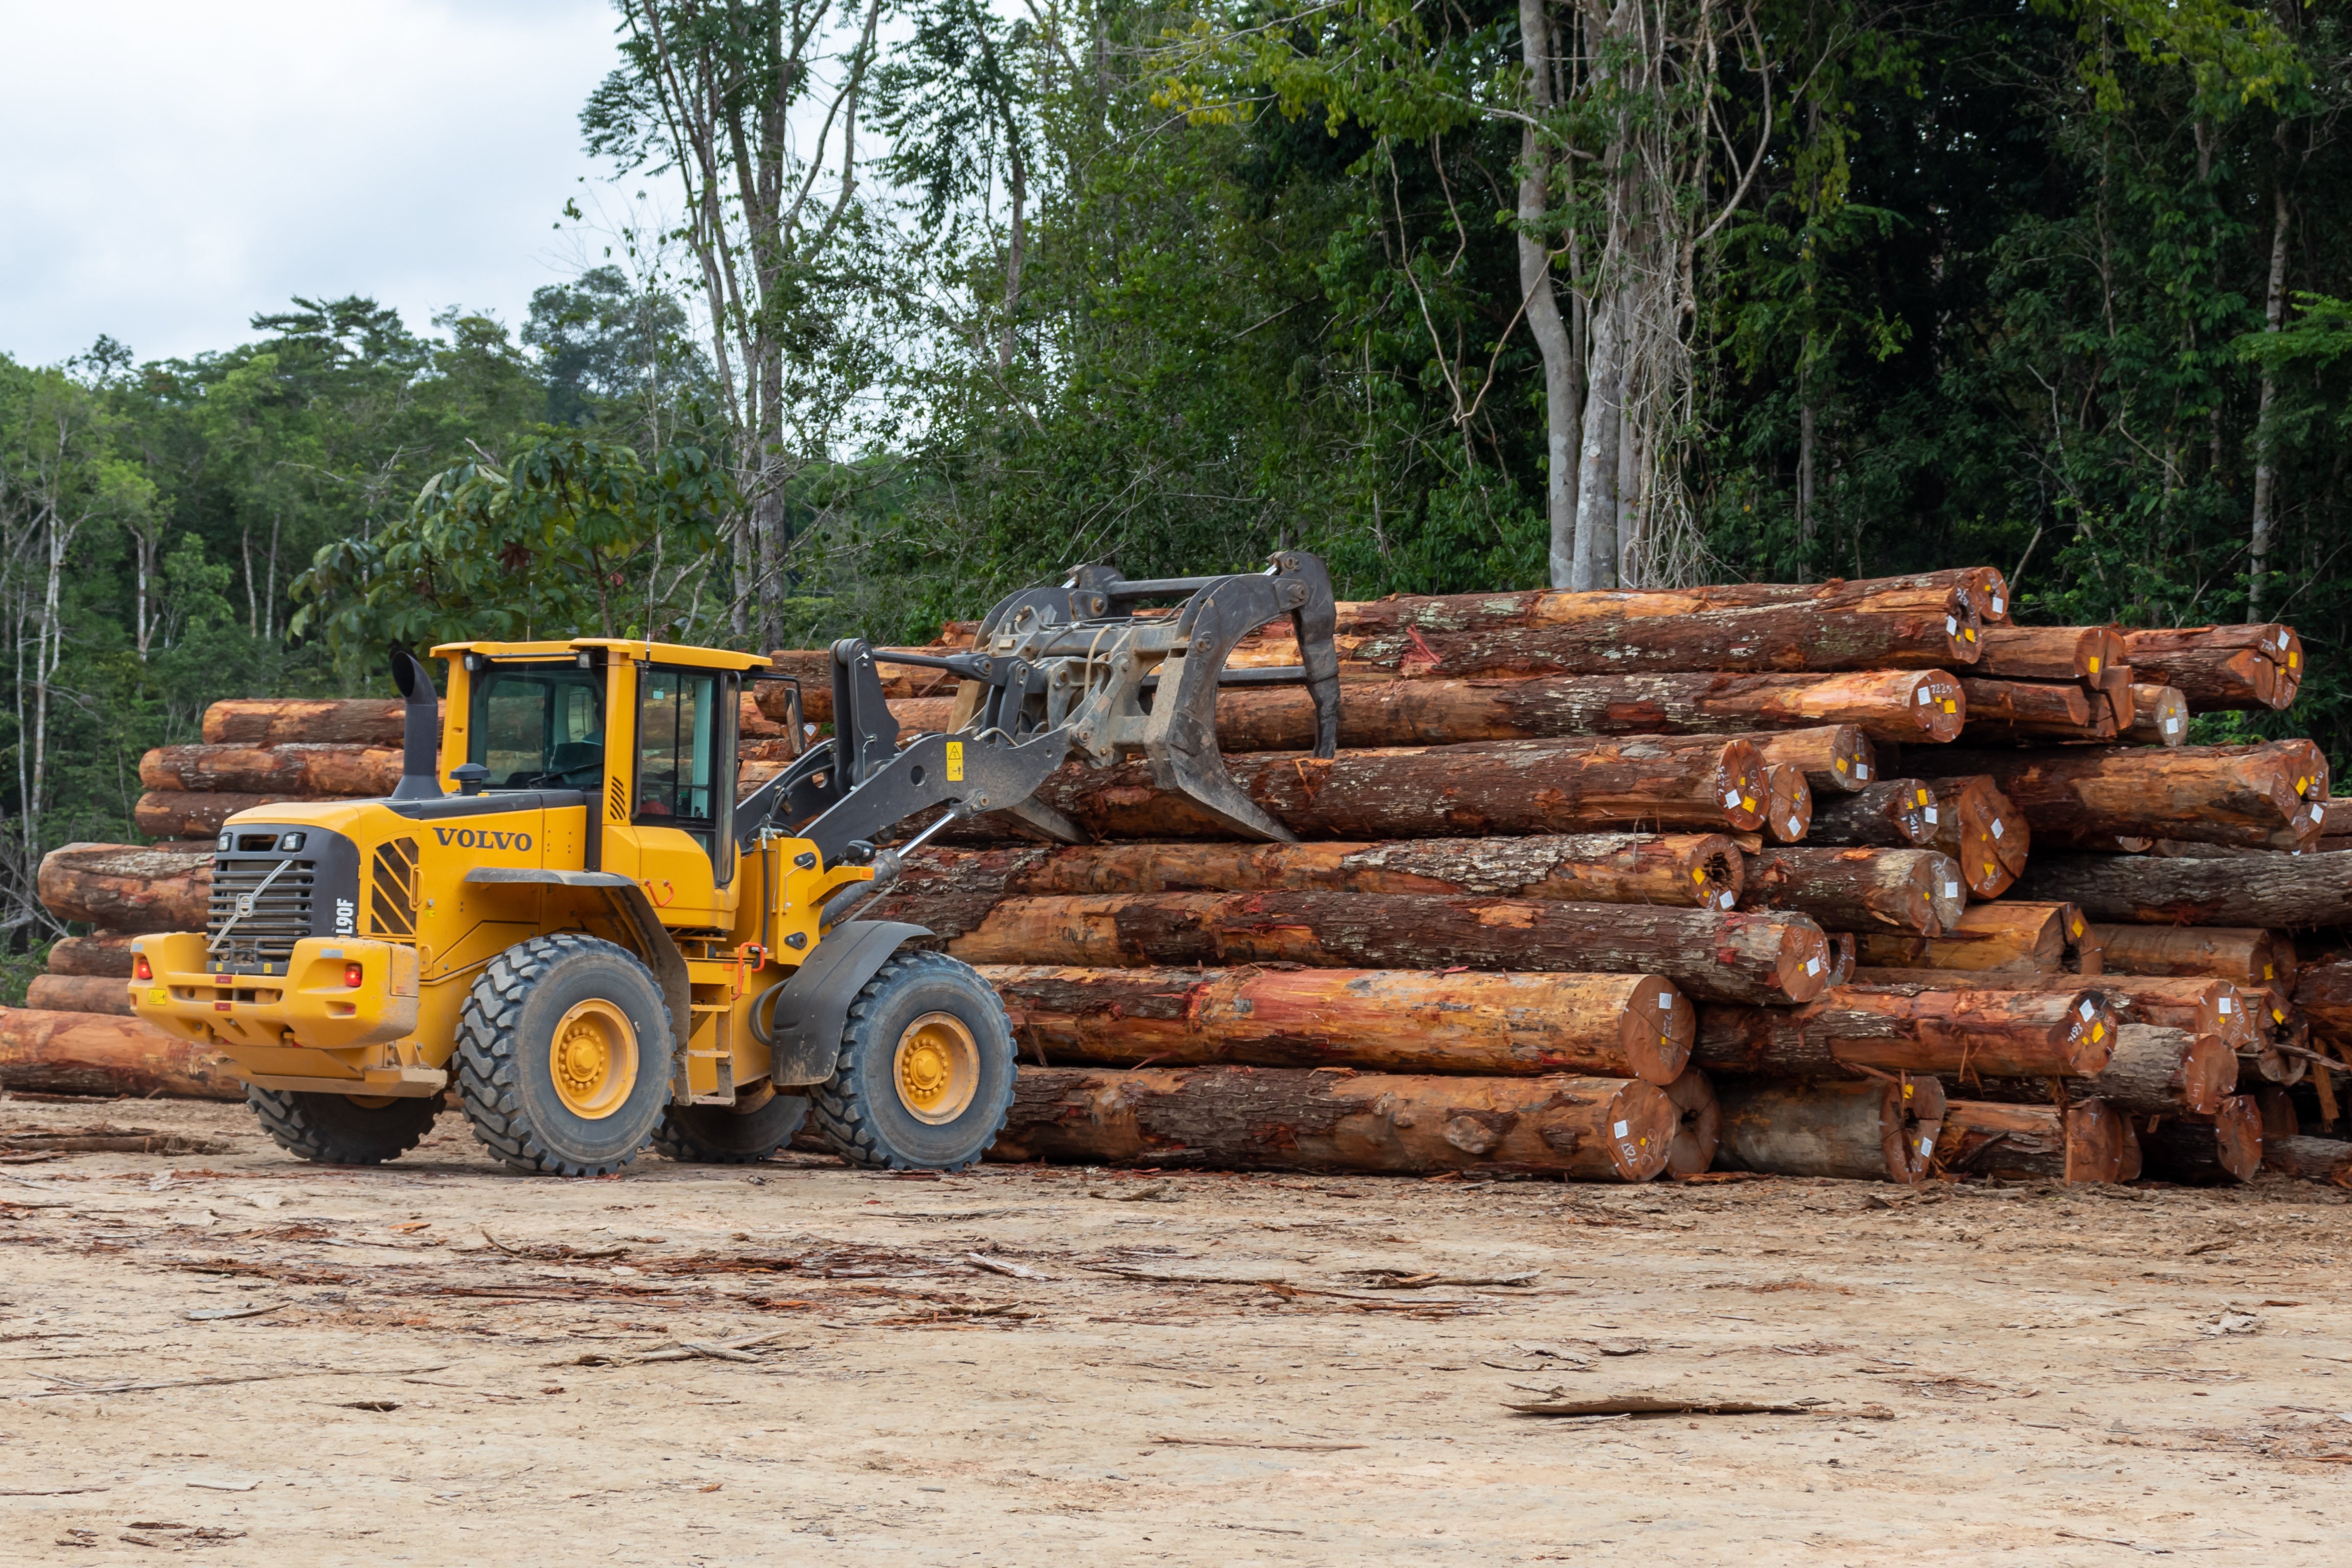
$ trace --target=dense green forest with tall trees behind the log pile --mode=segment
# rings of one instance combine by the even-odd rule
[[[1990,562],[2025,621],[2343,644],[2345,0],[816,14],[616,2],[579,134],[673,216],[569,209],[607,259],[522,322],[0,355],[16,952],[146,748],[393,639],[906,639],[1312,548],[1350,597]],[[2263,724],[2345,769],[2340,665]]]

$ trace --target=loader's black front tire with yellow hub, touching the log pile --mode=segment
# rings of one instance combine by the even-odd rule
[[[826,1143],[884,1171],[962,1171],[1011,1105],[1014,1023],[995,987],[943,952],[891,954],[849,1004],[833,1077],[809,1091]]]

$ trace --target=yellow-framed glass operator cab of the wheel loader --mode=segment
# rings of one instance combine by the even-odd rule
[[[576,870],[637,882],[673,929],[734,922],[736,691],[764,658],[616,637],[433,654],[449,661],[447,785],[475,764],[482,795],[579,790]]]

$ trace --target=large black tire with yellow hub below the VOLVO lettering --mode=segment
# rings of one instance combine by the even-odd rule
[[[572,1056],[572,1030],[602,1039],[602,1058]],[[654,971],[581,931],[515,943],[466,994],[456,1088],[473,1135],[510,1171],[612,1175],[670,1103],[670,1009]]]

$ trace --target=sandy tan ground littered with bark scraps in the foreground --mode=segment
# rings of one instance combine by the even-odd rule
[[[0,1166],[9,1563],[2352,1559],[2352,1211],[2274,1178],[555,1182],[0,1105],[101,1117],[230,1147]]]

